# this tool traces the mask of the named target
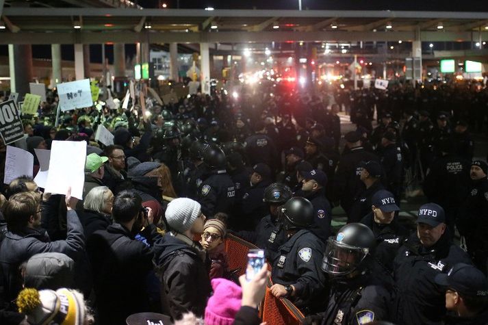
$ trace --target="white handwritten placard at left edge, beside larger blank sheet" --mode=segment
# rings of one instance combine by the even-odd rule
[[[32,177],[34,169],[34,156],[21,148],[7,146],[5,155],[5,174],[3,183],[10,184],[19,176]]]

